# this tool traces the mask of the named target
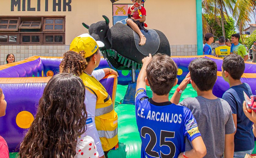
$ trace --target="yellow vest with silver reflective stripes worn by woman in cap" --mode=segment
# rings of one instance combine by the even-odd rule
[[[96,78],[86,73],[83,73],[80,78],[84,82],[85,88],[96,95],[95,125],[102,148],[104,151],[108,151],[118,143],[117,113],[106,89]]]

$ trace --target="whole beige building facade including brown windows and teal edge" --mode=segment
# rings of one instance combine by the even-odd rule
[[[115,19],[118,19],[115,16],[126,11],[122,10],[122,7],[132,4],[130,0],[0,0],[0,2],[1,65],[5,64],[8,53],[13,53],[16,61],[34,55],[62,56],[69,50],[74,37],[88,33],[82,22],[91,25],[104,20],[102,15],[106,15],[110,19],[111,27]],[[201,31],[198,27],[201,11],[197,8],[200,5],[198,0],[182,2],[148,0],[144,3],[148,29],[158,29],[167,36],[172,56],[197,55],[197,43],[200,39],[197,34]]]

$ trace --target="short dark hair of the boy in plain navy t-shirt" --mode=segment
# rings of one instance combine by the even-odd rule
[[[222,63],[223,71],[227,71],[234,80],[240,80],[244,74],[244,59],[240,55],[229,54],[224,57]]]

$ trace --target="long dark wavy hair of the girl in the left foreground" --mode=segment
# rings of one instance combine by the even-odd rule
[[[86,130],[83,81],[61,73],[50,79],[34,121],[20,145],[20,158],[73,158],[77,139]]]

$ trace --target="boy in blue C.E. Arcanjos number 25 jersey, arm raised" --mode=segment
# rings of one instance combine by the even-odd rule
[[[149,54],[142,63],[135,94],[141,157],[203,157],[206,149],[194,116],[188,108],[172,104],[168,98],[178,81],[177,65],[171,57],[162,54],[156,54],[152,59]],[[146,94],[146,84],[152,90],[152,98]],[[192,142],[193,149],[185,152],[186,137]]]

